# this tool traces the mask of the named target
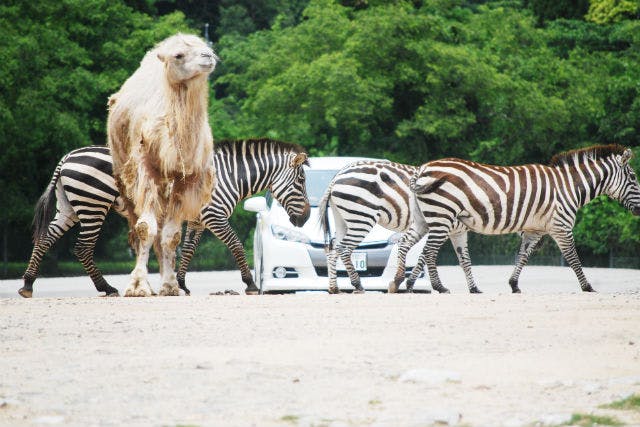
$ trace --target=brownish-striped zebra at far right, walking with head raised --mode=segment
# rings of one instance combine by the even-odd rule
[[[491,166],[455,158],[425,163],[414,177],[412,189],[429,233],[409,280],[415,280],[413,275],[426,262],[432,287],[449,292],[436,269],[438,251],[449,237],[469,291],[480,293],[471,275],[468,230],[483,234],[518,232],[522,243],[509,285],[513,293],[520,293],[520,272],[540,239],[549,234],[575,272],[581,289],[594,292],[576,253],[576,213],[604,194],[640,215],[640,185],[629,165],[631,156],[632,151],[620,145],[600,145],[560,153],[548,166]]]

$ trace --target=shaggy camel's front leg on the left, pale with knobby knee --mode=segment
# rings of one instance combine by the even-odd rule
[[[136,266],[131,272],[131,282],[124,292],[125,297],[148,297],[155,295],[147,280],[149,251],[158,234],[158,222],[150,212],[144,212],[134,227],[137,235],[138,250]]]

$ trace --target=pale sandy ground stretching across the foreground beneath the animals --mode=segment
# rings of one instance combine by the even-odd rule
[[[0,425],[530,426],[640,393],[640,271],[440,269],[450,295],[98,298],[85,277],[0,281]],[[126,276],[111,276],[123,290]],[[157,287],[157,284],[155,284]]]

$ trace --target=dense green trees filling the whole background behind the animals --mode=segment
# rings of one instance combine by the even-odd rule
[[[640,146],[639,4],[5,1],[4,259],[26,262],[32,207],[58,159],[105,142],[108,95],[146,49],[171,33],[202,33],[211,24],[222,58],[210,110],[217,139],[270,136],[299,142],[313,155],[411,164],[452,155],[546,163],[559,151],[591,144]],[[252,215],[238,212],[234,221],[250,240]],[[123,233],[122,221],[110,221],[98,255],[129,259]],[[640,221],[610,200],[581,212],[576,237],[587,256],[640,253]],[[472,257],[517,246],[510,237],[487,239],[511,243],[485,240],[472,247]],[[72,258],[71,240],[51,257]],[[206,245],[219,266],[233,266],[219,242]]]

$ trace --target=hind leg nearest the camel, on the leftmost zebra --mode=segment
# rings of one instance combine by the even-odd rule
[[[104,292],[105,296],[117,297],[120,295],[118,290],[107,283],[93,259],[93,252],[104,218],[104,216],[94,218],[91,223],[88,223],[86,218],[80,217],[80,234],[73,253],[82,263],[84,270],[91,278],[96,290],[98,292]],[[90,227],[87,224],[90,224]]]

